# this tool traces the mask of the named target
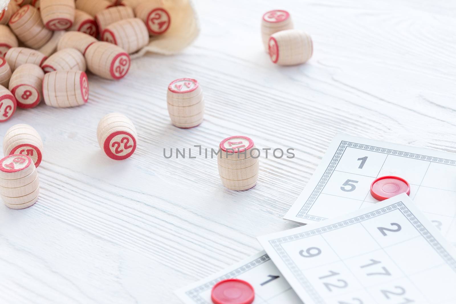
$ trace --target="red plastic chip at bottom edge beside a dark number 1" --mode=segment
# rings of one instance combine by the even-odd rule
[[[255,292],[249,283],[230,278],[212,287],[211,299],[214,304],[250,304],[255,299]]]

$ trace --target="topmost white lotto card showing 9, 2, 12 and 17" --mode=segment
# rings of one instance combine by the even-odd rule
[[[456,303],[454,247],[405,193],[259,241],[306,304]]]

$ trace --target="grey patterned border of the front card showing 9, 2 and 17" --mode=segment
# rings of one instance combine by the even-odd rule
[[[423,224],[413,215],[413,213],[405,206],[401,201],[391,204],[389,206],[385,206],[382,209],[365,213],[360,216],[355,216],[351,219],[344,220],[342,222],[334,223],[328,226],[316,228],[314,230],[310,230],[307,232],[296,233],[294,235],[289,235],[286,237],[280,237],[277,239],[269,240],[269,244],[274,248],[275,252],[280,256],[282,261],[288,267],[291,273],[295,276],[301,286],[304,287],[306,293],[311,297],[311,299],[316,304],[325,304],[326,301],[321,297],[321,295],[314,289],[310,281],[306,278],[304,273],[298,268],[298,266],[294,263],[293,259],[290,258],[288,253],[285,251],[283,244],[287,242],[293,242],[296,240],[300,240],[306,237],[311,237],[315,235],[319,235],[324,232],[334,231],[339,228],[347,227],[353,224],[361,223],[365,220],[371,219],[373,217],[381,216],[385,213],[399,210],[407,220],[415,227],[415,229],[420,233],[420,235],[430,244],[430,246],[439,254],[439,256],[445,261],[446,264],[450,266],[450,268],[456,273],[456,260],[451,257],[450,253],[446,251],[445,247],[443,247],[438,240],[425,228]]]

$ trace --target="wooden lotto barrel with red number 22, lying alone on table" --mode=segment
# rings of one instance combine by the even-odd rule
[[[109,158],[124,160],[135,152],[138,135],[135,126],[124,114],[110,113],[98,123],[97,139]]]

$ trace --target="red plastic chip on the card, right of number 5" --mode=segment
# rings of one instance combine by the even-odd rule
[[[396,196],[401,193],[410,195],[410,185],[407,180],[397,176],[382,176],[371,185],[371,195],[378,201]]]

